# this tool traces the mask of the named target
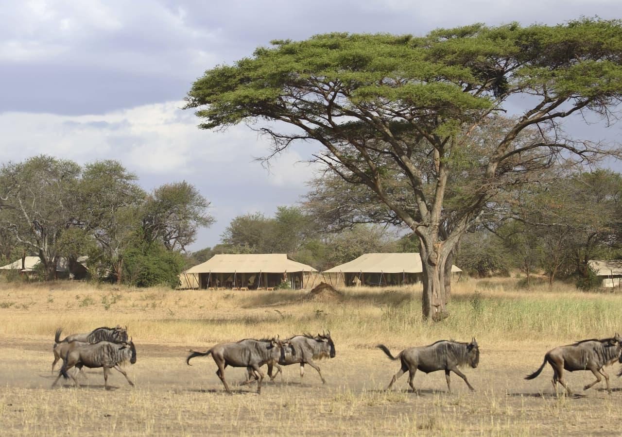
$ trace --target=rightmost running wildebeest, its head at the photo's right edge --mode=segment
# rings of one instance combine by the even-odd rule
[[[557,382],[564,386],[566,392],[572,395],[572,392],[564,382],[564,369],[569,372],[575,370],[591,370],[596,380],[592,384],[587,384],[583,387],[583,390],[587,390],[598,382],[601,382],[600,375],[605,377],[607,384],[607,391],[611,394],[611,387],[609,386],[609,375],[603,370],[604,366],[613,364],[614,361],[620,359],[622,352],[622,338],[615,334],[612,338],[603,339],[588,339],[578,341],[574,344],[567,344],[566,346],[555,347],[551,349],[544,356],[544,362],[540,369],[536,370],[531,375],[527,375],[525,379],[534,379],[542,372],[547,362],[550,367],[553,368],[553,389],[557,393]]]

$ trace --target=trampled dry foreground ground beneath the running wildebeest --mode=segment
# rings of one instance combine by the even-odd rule
[[[456,375],[447,393],[443,372],[419,372],[412,393],[406,375],[384,392],[399,366],[383,352],[340,349],[336,339],[337,357],[320,362],[327,384],[309,367],[301,384],[299,367],[289,366],[258,395],[237,385],[243,369],[228,368],[234,394],[227,395],[211,357],[184,362],[189,347],[205,344],[137,344],[137,362],[128,365],[136,387],[113,370],[106,391],[101,369],[78,377],[82,389],[62,379],[51,389],[50,339],[1,341],[2,435],[620,435],[619,366],[608,369],[612,395],[604,385],[583,392],[593,376],[575,372],[567,379],[577,394],[555,397],[550,367],[523,379],[540,366],[541,346],[482,346],[480,366],[464,371],[474,393]]]

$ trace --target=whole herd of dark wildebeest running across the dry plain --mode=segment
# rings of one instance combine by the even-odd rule
[[[83,367],[103,368],[104,387],[106,389],[108,389],[108,375],[112,368],[121,372],[130,385],[134,385],[126,372],[121,369],[121,366],[127,361],[131,364],[136,362],[136,347],[134,347],[131,338],[128,341],[127,326],[125,328],[121,326],[97,328],[90,333],[72,334],[62,340],[60,339],[61,333],[62,328],[58,328],[54,338],[52,372],[59,359],[62,359],[63,365],[52,387],[57,384],[61,376],[65,379],[71,377],[75,384],[80,387],[75,376],[82,371]],[[450,372],[461,377],[470,390],[475,390],[466,379],[466,375],[460,371],[460,367],[466,366],[475,369],[480,362],[480,349],[475,338],[472,338],[468,343],[439,340],[429,346],[409,347],[399,352],[397,356],[393,356],[384,344],[379,344],[377,347],[391,360],[400,361],[400,369],[393,375],[387,390],[390,390],[396,380],[404,373],[409,372],[408,383],[411,389],[416,392],[414,377],[417,370],[426,374],[444,370],[448,392],[452,391]],[[314,360],[334,358],[335,354],[335,343],[330,336],[330,331],[328,331],[328,333],[317,334],[317,336],[300,334],[287,339],[278,337],[259,340],[247,338],[232,343],[220,343],[205,352],[191,350],[186,363],[191,366],[190,360],[192,358],[211,355],[216,367],[218,367],[216,375],[228,393],[231,393],[231,390],[225,379],[226,367],[244,367],[247,372],[246,380],[241,384],[250,384],[256,381],[258,383],[257,392],[261,393],[261,383],[264,379],[264,373],[261,371],[262,366],[267,366],[267,374],[270,380],[274,380],[279,373],[282,374],[281,366],[300,364],[300,378],[302,379],[304,366],[309,364],[317,370],[322,383],[325,383],[326,380],[322,376],[320,367],[315,364]],[[602,376],[605,378],[606,389],[611,394],[609,375],[606,374],[604,367],[613,364],[615,361],[622,363],[622,337],[618,333],[611,338],[587,339],[566,346],[555,347],[545,354],[542,366],[536,372],[527,375],[525,379],[536,378],[548,362],[553,368],[552,384],[555,393],[557,393],[557,382],[559,382],[569,395],[572,394],[564,381],[564,370],[569,372],[590,370],[596,380],[585,385],[583,390],[590,389],[601,382]],[[69,374],[68,370],[72,367],[77,370],[73,374]],[[276,368],[275,374],[273,374],[274,368]],[[620,376],[622,376],[622,370],[618,373],[618,377]]]

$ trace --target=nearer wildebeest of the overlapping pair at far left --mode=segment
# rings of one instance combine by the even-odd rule
[[[129,385],[134,385],[134,383],[129,380],[128,374],[126,374],[126,372],[119,367],[126,361],[131,362],[131,364],[136,362],[136,347],[134,347],[134,343],[131,339],[129,343],[111,343],[109,341],[100,341],[95,344],[85,344],[84,346],[74,347],[72,350],[67,352],[65,362],[63,362],[63,366],[60,368],[60,373],[54,380],[52,387],[56,385],[61,375],[63,378],[68,379],[69,375],[67,374],[67,370],[72,367],[77,367],[78,369],[81,369],[82,367],[88,367],[90,369],[103,367],[104,388],[106,390],[108,390],[108,374],[110,369],[113,367],[123,374],[125,379],[128,380]],[[80,387],[80,384],[78,384],[75,376],[70,376],[72,377],[73,382]]]

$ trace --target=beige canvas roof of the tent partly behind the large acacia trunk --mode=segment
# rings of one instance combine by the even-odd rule
[[[419,253],[403,254],[364,254],[360,257],[336,265],[332,269],[324,270],[324,273],[421,273],[421,258]],[[462,272],[452,265],[452,272]]]

